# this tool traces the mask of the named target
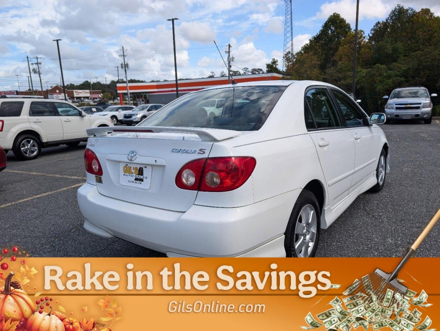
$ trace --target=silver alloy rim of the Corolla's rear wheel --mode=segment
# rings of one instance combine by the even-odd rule
[[[298,215],[295,225],[294,249],[297,257],[308,257],[315,247],[318,221],[315,208],[306,204]]]

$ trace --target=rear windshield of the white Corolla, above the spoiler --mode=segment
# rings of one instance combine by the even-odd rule
[[[255,131],[263,126],[286,86],[225,87],[184,95],[141,126],[205,127]],[[223,99],[213,108],[216,99]]]

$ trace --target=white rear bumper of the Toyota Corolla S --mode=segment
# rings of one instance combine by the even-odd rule
[[[237,208],[193,205],[186,212],[113,199],[88,183],[78,189],[77,198],[89,232],[168,256],[283,257],[283,233],[300,191]]]

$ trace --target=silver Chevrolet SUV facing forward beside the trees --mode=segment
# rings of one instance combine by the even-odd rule
[[[431,97],[436,97],[435,93]],[[386,122],[397,120],[423,120],[430,124],[433,120],[433,102],[426,87],[400,87],[385,95],[388,99],[385,105]]]

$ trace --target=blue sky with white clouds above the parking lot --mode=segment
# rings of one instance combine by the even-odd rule
[[[397,3],[440,15],[438,0],[360,0],[359,28],[367,33]],[[26,55],[42,62],[43,87],[59,83],[56,43],[67,83],[117,78],[121,46],[128,78],[174,78],[171,22],[176,17],[178,76],[198,78],[225,69],[213,44],[231,44],[233,69],[262,68],[282,58],[283,0],[0,0],[0,91],[28,87]],[[333,12],[352,25],[356,1],[293,0],[294,50],[319,31]],[[280,61],[281,63],[281,61]],[[122,77],[123,73],[119,71]],[[46,83],[47,82],[47,83]],[[34,88],[40,88],[33,75]]]

